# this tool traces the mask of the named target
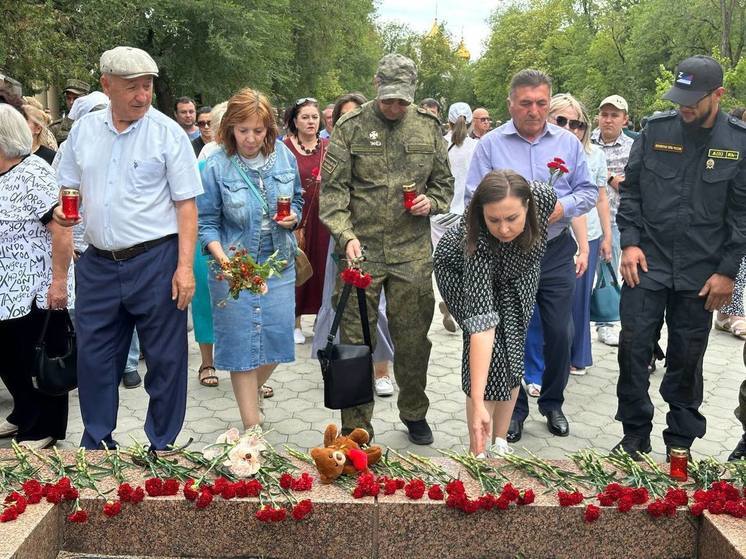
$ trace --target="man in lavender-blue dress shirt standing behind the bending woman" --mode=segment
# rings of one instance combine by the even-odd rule
[[[538,70],[522,70],[510,83],[508,110],[511,120],[487,133],[479,141],[466,178],[466,204],[482,177],[494,169],[513,169],[528,181],[548,181],[547,163],[561,158],[569,173],[555,177],[557,205],[549,217],[547,250],[541,263],[539,306],[544,329],[546,369],[539,411],[547,418],[549,431],[565,437],[570,433],[562,412],[564,390],[570,372],[572,300],[575,289],[573,257],[577,245],[568,232],[572,218],[596,205],[598,187],[591,181],[583,146],[574,134],[547,123],[552,83]],[[527,346],[528,347],[528,346]],[[518,390],[508,441],[517,442],[528,417],[528,398]]]

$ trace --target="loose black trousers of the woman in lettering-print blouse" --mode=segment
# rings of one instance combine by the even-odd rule
[[[0,378],[13,397],[13,411],[8,421],[18,426],[18,441],[33,441],[52,437],[62,440],[67,431],[67,394],[47,396],[36,390],[31,382],[34,346],[44,326],[46,310],[34,305],[21,318],[0,321],[0,352],[3,356]],[[48,331],[62,327],[64,317],[52,313]],[[57,324],[59,323],[59,324]],[[47,338],[49,355],[61,353],[56,340]]]

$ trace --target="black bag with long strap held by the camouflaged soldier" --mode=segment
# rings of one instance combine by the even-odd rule
[[[350,291],[352,285],[345,284],[339,297],[334,322],[329,330],[326,347],[317,353],[324,379],[324,406],[332,410],[351,408],[373,401],[373,357],[364,289],[357,288],[357,302],[360,307],[365,345],[334,343]]]

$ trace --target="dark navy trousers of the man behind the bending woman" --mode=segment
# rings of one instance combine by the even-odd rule
[[[572,302],[575,291],[577,245],[566,231],[549,241],[541,261],[536,304],[544,331],[544,377],[541,382],[539,410],[561,410],[565,402],[565,386],[570,375],[570,345],[572,344]],[[513,410],[513,419],[528,417],[528,397],[521,388]]]

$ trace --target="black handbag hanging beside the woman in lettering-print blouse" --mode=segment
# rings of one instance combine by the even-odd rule
[[[60,340],[61,354],[50,356],[47,349],[47,329],[52,313],[64,313],[63,331],[55,332],[55,336],[64,336]],[[55,321],[56,322],[56,321]],[[62,396],[78,387],[78,350],[75,343],[75,328],[70,320],[67,309],[53,311],[48,309],[44,317],[44,327],[41,329],[39,341],[34,346],[34,363],[32,382],[34,388],[49,396]]]

